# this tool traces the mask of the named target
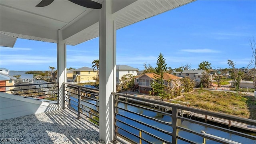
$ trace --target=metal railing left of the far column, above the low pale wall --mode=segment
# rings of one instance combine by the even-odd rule
[[[43,84],[20,84],[14,86],[1,86],[0,92],[32,98],[51,104],[58,104],[59,86],[57,82]]]

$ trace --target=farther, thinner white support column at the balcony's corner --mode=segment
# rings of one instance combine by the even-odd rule
[[[59,108],[65,107],[65,91],[63,89],[63,82],[67,82],[66,70],[66,42],[62,39],[62,31],[58,30],[57,43],[57,70],[59,83]]]

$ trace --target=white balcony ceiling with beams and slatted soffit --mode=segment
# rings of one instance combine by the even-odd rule
[[[100,9],[84,8],[68,0],[0,0],[0,45],[13,47],[16,38],[57,42],[58,30],[67,44],[76,45],[99,36]],[[95,0],[102,3],[102,0]],[[122,28],[193,0],[113,0],[112,14]]]

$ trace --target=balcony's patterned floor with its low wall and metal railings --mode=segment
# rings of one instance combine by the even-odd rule
[[[42,85],[42,84],[41,84]],[[55,100],[42,98],[44,87],[15,87],[11,94],[1,92],[1,143],[89,143],[100,140],[99,89],[64,83],[64,109]],[[58,88],[56,84],[50,89]],[[36,93],[34,90],[40,91]],[[40,96],[36,96],[39,94]],[[46,94],[48,95],[48,93]],[[199,110],[157,100],[112,92],[114,121],[113,143],[224,143],[256,142],[256,121]],[[60,100],[60,96],[56,97]],[[44,100],[46,99],[46,100]],[[48,101],[47,101],[48,100]],[[40,103],[38,103],[40,102]],[[55,103],[54,103],[55,102]],[[48,105],[46,104],[48,103]],[[31,110],[32,109],[32,110]],[[29,111],[30,114],[26,111]],[[24,114],[17,115],[17,114]],[[103,123],[104,124],[104,123]]]

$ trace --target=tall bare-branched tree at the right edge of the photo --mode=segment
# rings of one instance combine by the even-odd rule
[[[248,64],[247,68],[249,69],[246,73],[246,76],[252,79],[254,84],[254,90],[256,90],[256,42],[254,38],[250,39],[250,47],[252,49],[252,59]]]

